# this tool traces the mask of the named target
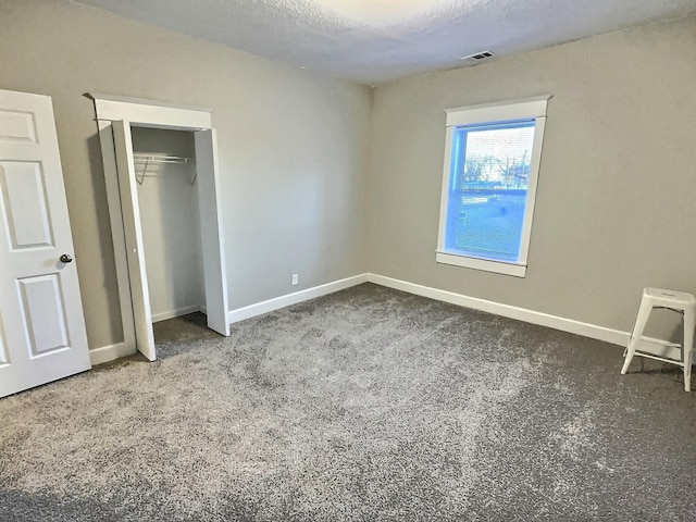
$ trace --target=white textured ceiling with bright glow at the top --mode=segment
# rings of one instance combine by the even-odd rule
[[[76,0],[368,85],[696,12],[696,0]]]

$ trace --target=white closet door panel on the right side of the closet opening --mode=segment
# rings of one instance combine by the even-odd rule
[[[208,327],[228,336],[225,238],[222,229],[220,186],[216,175],[217,139],[214,128],[196,133],[196,165]]]

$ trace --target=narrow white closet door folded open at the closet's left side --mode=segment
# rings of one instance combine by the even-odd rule
[[[135,181],[130,123],[112,122],[111,126],[116,153],[116,170],[119,171],[119,188],[121,189],[121,211],[130,278],[136,346],[145,357],[154,361],[157,350],[152,332],[152,310],[150,309],[150,293],[145,264],[138,190]]]

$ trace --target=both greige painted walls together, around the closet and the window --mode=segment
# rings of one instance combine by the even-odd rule
[[[696,293],[695,17],[374,91],[66,0],[0,35],[0,88],[53,98],[91,348],[122,332],[88,91],[212,109],[232,308],[370,271],[629,330],[642,287]],[[436,264],[443,110],[539,94],[526,278]]]

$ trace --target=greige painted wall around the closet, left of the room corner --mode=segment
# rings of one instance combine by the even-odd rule
[[[90,348],[123,339],[95,111],[84,92],[207,107],[232,308],[363,257],[371,89],[66,0],[0,3],[0,88],[53,98]],[[290,274],[300,285],[290,286]]]

